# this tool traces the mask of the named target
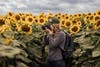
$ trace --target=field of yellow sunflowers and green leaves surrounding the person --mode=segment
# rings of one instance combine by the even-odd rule
[[[89,13],[14,13],[0,15],[0,67],[44,66],[48,46],[41,26],[55,17],[75,42],[72,67],[100,67],[100,10]]]

